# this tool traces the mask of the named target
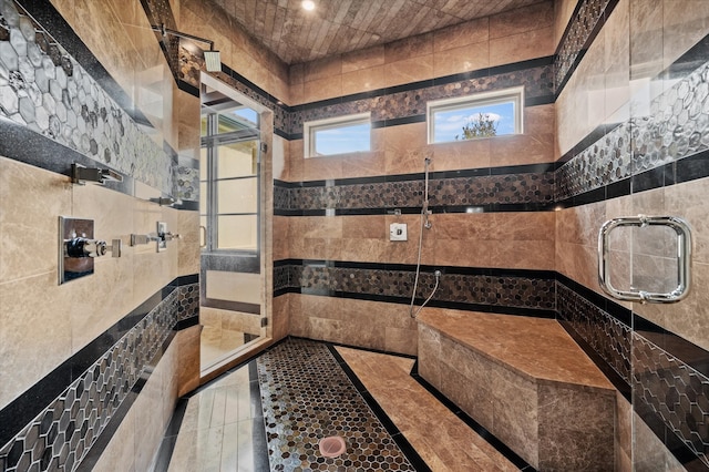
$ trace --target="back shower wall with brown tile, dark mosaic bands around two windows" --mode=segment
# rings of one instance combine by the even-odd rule
[[[553,168],[534,166],[548,164],[554,155],[553,21],[552,2],[542,2],[290,68],[294,121],[288,160],[280,175],[275,174],[281,182],[276,185],[274,217],[274,234],[287,234],[288,239],[275,239],[274,259],[288,259],[289,270],[300,271],[290,274],[296,285],[307,278],[304,295],[275,300],[275,310],[290,315],[292,335],[357,339],[362,346],[415,353],[415,322],[408,307],[384,301],[400,300],[412,289],[411,267],[399,271],[392,265],[417,261],[421,223],[414,212],[421,206],[424,156],[432,157],[431,195],[438,209],[432,229],[423,235],[421,259],[428,273],[436,265],[520,269],[500,281],[500,287],[505,277],[513,281],[502,295],[512,300],[516,284],[531,280],[524,270],[554,268],[554,214],[528,212],[553,195],[547,174]],[[514,85],[525,86],[524,135],[427,143],[427,101]],[[378,123],[371,152],[304,158],[302,121],[363,111]],[[491,168],[499,166],[523,167],[510,177],[493,175]],[[465,213],[473,205],[477,211]],[[505,212],[482,212],[495,205]],[[444,207],[455,207],[455,213],[440,213]],[[403,214],[394,215],[395,208]],[[389,224],[394,222],[408,224],[408,242],[389,242]],[[328,267],[329,261],[342,264]],[[459,293],[462,300],[470,287],[497,275],[451,274],[442,293]],[[535,284],[548,284],[536,277]],[[431,283],[428,277],[421,290]],[[328,293],[333,296],[312,296]],[[340,296],[346,293],[364,299]],[[496,300],[477,297],[474,302],[491,309]],[[518,306],[553,308],[542,299],[518,300]]]

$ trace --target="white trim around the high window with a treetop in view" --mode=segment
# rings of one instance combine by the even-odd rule
[[[506,102],[514,102],[514,134],[524,133],[524,86],[515,86],[511,89],[497,90],[494,92],[474,93],[472,95],[428,102],[425,105],[425,117],[428,125],[429,144],[444,144],[455,142],[434,142],[433,113],[466,109],[472,106],[496,105],[499,103]],[[508,134],[506,134],[505,136],[508,136]]]

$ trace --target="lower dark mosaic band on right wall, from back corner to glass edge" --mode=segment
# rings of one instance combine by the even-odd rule
[[[630,383],[630,327],[582,297],[561,281],[556,283],[556,310],[561,319],[588,343],[600,358]]]

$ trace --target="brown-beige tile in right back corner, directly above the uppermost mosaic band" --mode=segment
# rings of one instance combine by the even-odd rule
[[[492,31],[492,28],[491,28]],[[490,65],[508,64],[554,54],[552,27],[490,40]]]

